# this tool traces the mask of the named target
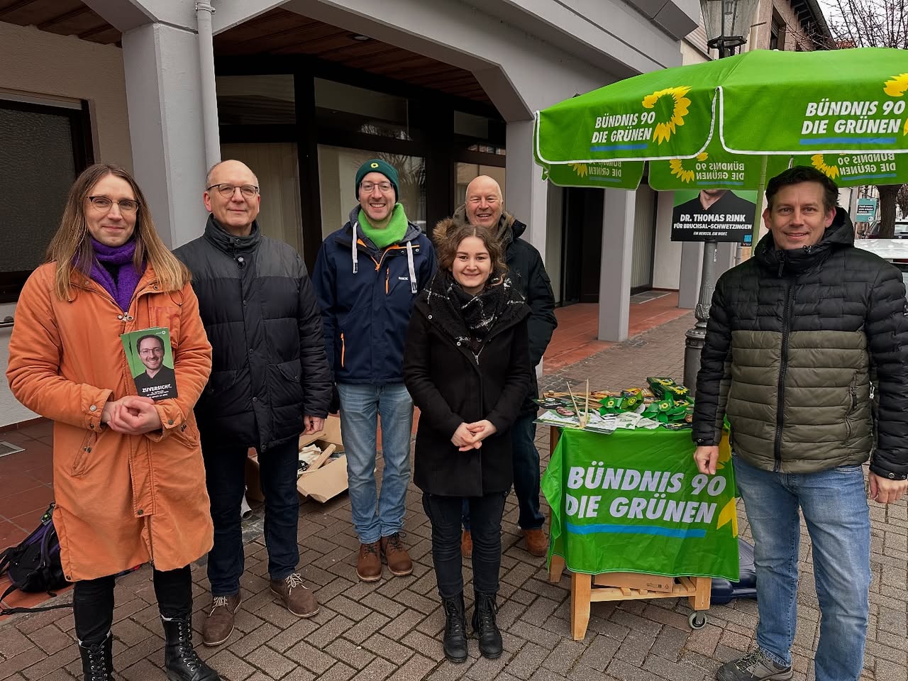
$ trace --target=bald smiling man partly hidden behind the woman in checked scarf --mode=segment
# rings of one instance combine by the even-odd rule
[[[479,175],[467,185],[466,202],[454,212],[454,219],[460,222],[493,230],[505,247],[508,270],[514,284],[523,294],[530,308],[529,363],[536,367],[552,340],[552,332],[558,327],[555,318],[555,294],[548,279],[542,256],[530,244],[520,238],[527,225],[504,210],[501,187],[489,175]],[[518,526],[523,530],[527,550],[534,556],[548,553],[548,538],[542,526],[546,518],[539,512],[539,452],[536,449],[536,420],[538,405],[538,384],[536,371],[532,372],[527,399],[524,400],[518,419],[510,429],[514,459],[514,494],[517,496],[520,513]],[[469,558],[473,552],[473,538],[469,531],[469,507],[464,505],[464,531],[460,541],[461,553]]]

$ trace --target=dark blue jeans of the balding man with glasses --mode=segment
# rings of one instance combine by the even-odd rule
[[[240,591],[242,577],[242,527],[240,504],[246,490],[246,447],[215,446],[202,433],[205,484],[212,500],[214,546],[208,553],[208,580],[212,596],[232,596]],[[296,470],[300,455],[296,438],[259,450],[259,472],[265,496],[265,548],[271,579],[296,571],[300,547],[296,543],[300,497]]]

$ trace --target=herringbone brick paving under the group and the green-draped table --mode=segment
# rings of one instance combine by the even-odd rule
[[[647,375],[680,379],[684,331],[691,315],[603,350],[543,378],[545,388],[563,390],[590,379],[597,388],[642,385]],[[548,459],[548,432],[539,430],[538,447]],[[890,508],[871,503],[873,586],[865,679],[904,681],[906,672],[906,560],[908,515],[905,501]],[[706,627],[692,632],[686,599],[627,601],[592,605],[587,636],[569,635],[568,577],[558,585],[546,580],[543,561],[524,550],[516,528],[517,506],[508,500],[502,538],[501,610],[498,623],[505,654],[492,661],[477,657],[475,640],[466,664],[451,665],[441,652],[444,616],[431,568],[429,522],[420,493],[408,494],[407,542],[414,559],[411,577],[360,583],[355,562],[358,541],[350,526],[346,495],[320,505],[301,505],[302,569],[317,589],[321,612],[298,619],[272,599],[261,522],[247,523],[244,601],[232,637],[218,648],[199,646],[230,681],[363,681],[427,678],[572,679],[601,681],[702,681],[711,679],[725,660],[754,645],[755,601],[710,609]],[[748,536],[743,508],[742,534]],[[813,678],[809,667],[818,635],[818,607],[804,533],[801,548],[795,679]],[[471,577],[469,567],[466,577]],[[385,571],[388,576],[387,570]],[[201,629],[210,597],[203,566],[193,566],[194,624]],[[468,600],[471,587],[467,588]],[[68,596],[66,596],[68,597]],[[64,598],[64,597],[62,597]],[[129,681],[163,679],[163,637],[154,603],[151,572],[143,568],[122,577],[116,587],[114,666]],[[468,603],[468,614],[471,604]],[[68,610],[17,616],[0,623],[0,680],[70,679],[80,670]],[[197,635],[196,640],[201,636]],[[809,676],[808,676],[809,674]]]

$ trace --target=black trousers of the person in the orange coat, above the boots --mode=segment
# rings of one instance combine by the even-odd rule
[[[164,617],[192,616],[192,573],[189,566],[153,570],[154,595]],[[75,636],[84,645],[101,643],[114,625],[114,576],[83,579],[73,587]]]

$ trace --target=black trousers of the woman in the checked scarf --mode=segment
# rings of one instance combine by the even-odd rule
[[[501,568],[501,515],[508,492],[482,497],[439,497],[423,494],[422,508],[432,524],[432,562],[442,598],[463,592],[460,556],[460,516],[463,503],[469,503],[473,536],[473,587],[483,594],[498,593]]]

